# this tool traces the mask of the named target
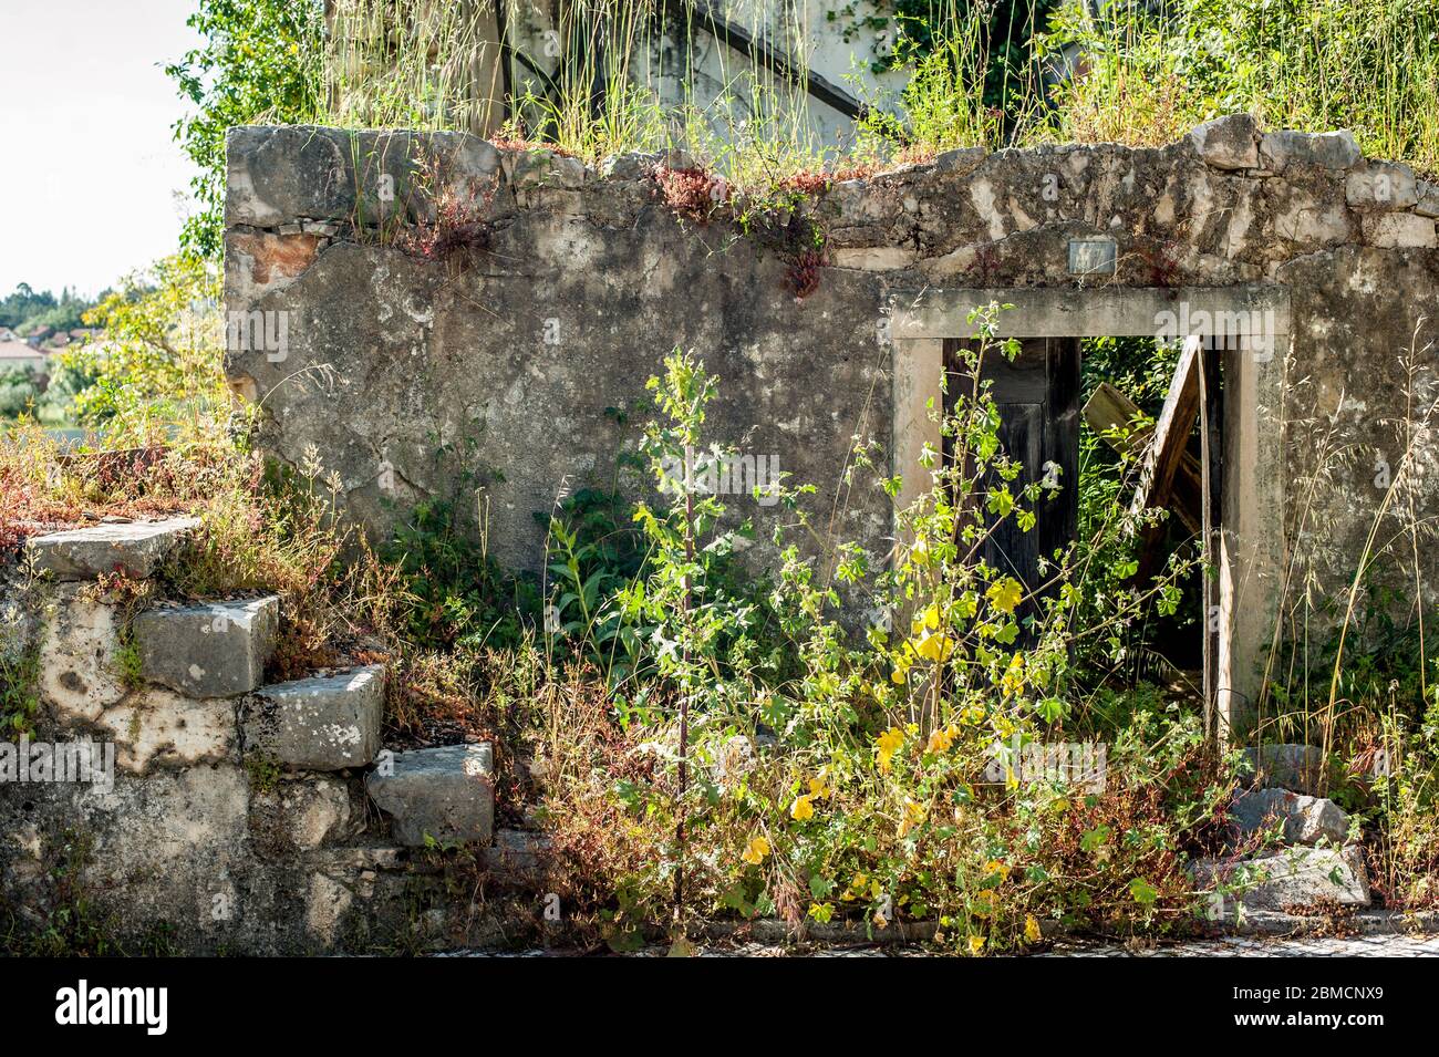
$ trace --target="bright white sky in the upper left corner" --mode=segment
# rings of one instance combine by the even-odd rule
[[[0,296],[95,295],[173,253],[194,167],[164,65],[194,0],[0,0]]]

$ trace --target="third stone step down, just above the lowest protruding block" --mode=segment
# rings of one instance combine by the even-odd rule
[[[240,706],[246,754],[278,759],[294,771],[341,771],[368,765],[380,751],[384,666],[262,686]]]

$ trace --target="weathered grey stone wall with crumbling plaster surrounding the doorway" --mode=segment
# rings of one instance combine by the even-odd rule
[[[492,552],[537,569],[535,515],[614,480],[633,426],[613,408],[633,407],[682,345],[722,380],[715,437],[817,485],[820,522],[879,555],[888,506],[840,475],[856,434],[891,453],[912,441],[901,434],[914,429],[914,368],[895,364],[914,362],[896,352],[917,332],[894,329],[908,305],[993,289],[1016,293],[1023,315],[1025,290],[1148,290],[1180,315],[1186,290],[1268,290],[1289,305],[1284,347],[1256,367],[1246,436],[1227,440],[1239,462],[1259,457],[1245,444],[1282,444],[1263,488],[1236,499],[1262,508],[1249,542],[1278,549],[1236,577],[1272,600],[1286,515],[1301,505],[1322,531],[1325,587],[1347,582],[1384,495],[1374,463],[1397,472],[1396,420],[1439,391],[1439,188],[1366,161],[1348,134],[1261,134],[1239,116],[1161,150],[955,151],[836,183],[802,206],[826,237],[804,298],[793,244],[681,221],[652,161],[626,155],[597,174],[452,134],[233,129],[227,308],[288,321],[285,342],[252,341],[229,360],[235,388],[263,406],[265,447],[298,462],[314,446],[350,511],[380,532],[419,496],[471,502],[463,469],[481,482]],[[436,197],[442,217],[463,223],[440,223],[458,234],[427,259]],[[1111,239],[1114,273],[1072,273],[1075,239]],[[924,337],[964,337],[950,328]],[[1331,426],[1350,465],[1311,489],[1315,436]],[[442,446],[456,456],[449,469]],[[1417,454],[1432,467],[1432,443]],[[1416,515],[1432,516],[1439,477],[1417,480]],[[740,502],[761,538],[781,516]],[[1432,549],[1422,561],[1432,603],[1439,562]]]

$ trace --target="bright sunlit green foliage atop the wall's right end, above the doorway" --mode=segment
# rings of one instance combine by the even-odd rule
[[[1439,168],[1439,10],[1393,0],[1183,0],[1059,9],[1040,43],[1084,46],[1058,99],[1059,138],[1171,141],[1250,111],[1274,128],[1348,128],[1371,157]]]

